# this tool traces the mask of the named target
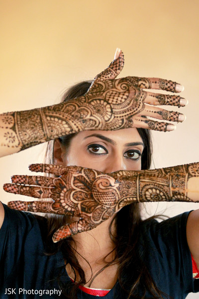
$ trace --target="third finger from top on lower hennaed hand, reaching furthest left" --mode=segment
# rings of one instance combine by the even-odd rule
[[[52,197],[51,189],[53,188],[34,187],[8,183],[3,185],[3,189],[8,193],[21,194],[35,198],[49,198]]]

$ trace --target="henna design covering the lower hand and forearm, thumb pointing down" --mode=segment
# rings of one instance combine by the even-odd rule
[[[77,216],[53,236],[57,242],[98,226],[121,207],[132,202],[192,201],[187,183],[199,176],[199,163],[161,169],[125,171],[109,174],[79,166],[32,164],[30,170],[53,173],[57,177],[14,175],[5,191],[51,201],[11,201],[18,210]]]

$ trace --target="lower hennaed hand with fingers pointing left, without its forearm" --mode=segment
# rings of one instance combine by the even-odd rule
[[[12,201],[8,203],[9,207],[61,215],[68,213],[80,218],[61,227],[53,236],[54,242],[95,228],[117,209],[118,183],[107,174],[77,166],[47,164],[33,164],[30,169],[59,177],[14,175],[12,182],[16,184],[5,184],[4,189],[36,198],[52,198],[53,201]]]

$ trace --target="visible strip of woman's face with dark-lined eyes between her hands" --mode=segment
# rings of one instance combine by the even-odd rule
[[[118,131],[83,131],[71,141],[64,165],[93,168],[104,173],[140,170],[142,139],[135,128]]]

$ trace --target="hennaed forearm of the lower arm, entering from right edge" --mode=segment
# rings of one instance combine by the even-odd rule
[[[199,163],[110,175],[119,182],[120,205],[128,201],[199,202]]]

